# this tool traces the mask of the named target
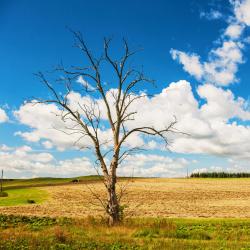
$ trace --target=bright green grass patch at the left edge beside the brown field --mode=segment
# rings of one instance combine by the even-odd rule
[[[8,197],[0,197],[0,206],[29,204],[28,200],[34,200],[35,203],[39,204],[48,197],[46,191],[37,188],[10,189],[6,192],[8,193]]]

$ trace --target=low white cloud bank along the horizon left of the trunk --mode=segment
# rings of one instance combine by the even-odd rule
[[[5,177],[73,177],[96,174],[86,157],[57,161],[53,155],[37,153],[29,146],[8,147],[8,150],[6,147],[0,148],[0,165]]]

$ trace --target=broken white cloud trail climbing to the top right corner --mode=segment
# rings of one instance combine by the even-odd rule
[[[237,82],[238,66],[244,62],[243,49],[246,40],[242,39],[246,25],[249,25],[248,14],[250,0],[234,3],[235,16],[230,19],[228,27],[221,35],[220,45],[213,48],[206,61],[195,53],[171,49],[174,60],[183,65],[183,69],[199,81],[218,86],[228,86]]]

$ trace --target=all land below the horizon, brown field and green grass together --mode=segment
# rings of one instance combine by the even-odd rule
[[[103,184],[80,179],[5,182],[0,249],[250,248],[249,179],[121,179],[127,216],[113,228],[91,194],[104,195]],[[13,193],[25,198],[8,203]]]

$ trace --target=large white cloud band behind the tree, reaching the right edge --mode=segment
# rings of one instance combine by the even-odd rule
[[[171,150],[178,153],[202,153],[250,159],[250,127],[243,126],[238,121],[249,121],[250,112],[248,102],[241,97],[236,98],[230,90],[224,90],[211,84],[204,84],[197,88],[200,101],[194,97],[189,82],[181,80],[169,84],[154,97],[139,98],[133,105],[133,111],[138,113],[133,121],[125,125],[128,129],[138,126],[153,126],[161,129],[177,118],[176,128],[189,134],[169,134]],[[75,101],[85,101],[85,97],[72,93]],[[96,100],[99,101],[99,100]],[[104,110],[102,119],[107,119],[105,108],[100,102],[100,109]],[[54,112],[52,112],[54,111]],[[130,110],[132,111],[132,110]],[[15,111],[17,119],[31,128],[30,131],[19,132],[27,141],[40,141],[45,148],[52,146],[58,149],[69,149],[74,146],[77,137],[67,135],[55,130],[56,126],[63,128],[62,123],[55,113],[58,108],[51,104],[30,105],[25,104]],[[113,112],[113,111],[112,111]],[[236,119],[231,122],[232,119]],[[103,141],[112,138],[111,131],[103,128],[100,131]],[[82,143],[82,144],[81,144]],[[111,143],[111,141],[110,141]],[[91,145],[90,141],[83,139],[79,144]],[[112,145],[112,144],[110,144]],[[137,134],[127,141],[128,147],[144,145],[148,149],[165,148],[159,141],[145,140]]]

